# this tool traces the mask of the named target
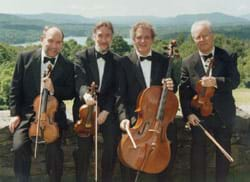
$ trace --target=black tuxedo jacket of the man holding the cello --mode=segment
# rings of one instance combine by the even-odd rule
[[[168,68],[168,59],[152,51],[151,80],[150,85],[161,85]],[[132,123],[136,119],[136,102],[141,91],[146,88],[145,80],[136,52],[123,57],[118,63],[118,99],[117,109],[119,120],[130,119]]]

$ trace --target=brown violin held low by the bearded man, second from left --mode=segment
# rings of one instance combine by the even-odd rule
[[[92,82],[89,87],[89,94],[93,98],[96,98],[97,85]],[[95,120],[96,120],[96,109],[95,105],[84,104],[79,109],[79,118],[75,125],[74,130],[80,137],[85,137],[89,135],[95,135]]]

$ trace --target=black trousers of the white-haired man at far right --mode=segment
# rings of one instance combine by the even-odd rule
[[[202,119],[202,118],[201,118]],[[201,124],[213,134],[218,143],[228,152],[231,152],[230,139],[232,127],[226,126],[219,116],[215,114],[206,119],[203,118]],[[207,161],[207,136],[200,127],[192,127],[192,149],[191,149],[191,181],[206,181],[206,161]],[[225,156],[216,148],[216,182],[226,182],[229,171],[229,162]]]

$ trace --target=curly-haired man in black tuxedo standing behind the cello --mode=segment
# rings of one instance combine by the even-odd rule
[[[165,78],[168,68],[167,57],[152,50],[154,38],[155,31],[151,24],[136,23],[131,29],[134,51],[123,57],[118,64],[117,109],[120,128],[124,131],[126,127],[135,124],[137,119],[135,110],[140,92],[162,83],[166,84],[169,90],[174,90],[173,80]],[[122,168],[124,168],[122,169],[124,182],[134,181],[135,171]],[[141,173],[138,179],[139,181],[166,181],[166,170],[158,175]]]

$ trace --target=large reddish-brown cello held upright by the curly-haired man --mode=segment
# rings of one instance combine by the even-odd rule
[[[166,78],[171,76],[176,41],[171,41]],[[133,128],[127,128],[118,145],[118,157],[125,165],[138,172],[157,174],[170,160],[170,142],[166,131],[178,110],[173,91],[163,86],[143,90],[137,100],[138,119]]]

